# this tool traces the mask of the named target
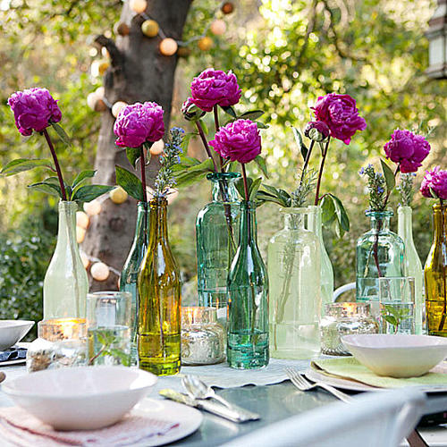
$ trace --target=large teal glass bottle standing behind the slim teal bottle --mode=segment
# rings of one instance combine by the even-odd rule
[[[226,283],[239,238],[240,200],[235,183],[240,173],[209,173],[213,201],[196,220],[198,305],[217,308],[226,322]]]

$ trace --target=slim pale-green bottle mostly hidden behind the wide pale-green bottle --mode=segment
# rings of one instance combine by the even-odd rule
[[[320,266],[321,266],[321,311],[325,310],[325,305],[333,302],[333,265],[325,249],[323,240],[322,210],[320,206],[309,206],[311,213],[308,214],[307,228],[314,234],[320,244]]]

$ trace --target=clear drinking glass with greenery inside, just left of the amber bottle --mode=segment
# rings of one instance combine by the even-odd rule
[[[89,365],[130,366],[131,293],[89,293],[87,324]]]

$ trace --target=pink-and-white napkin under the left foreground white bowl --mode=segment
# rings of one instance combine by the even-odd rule
[[[0,439],[22,447],[130,445],[168,433],[178,423],[145,417],[134,410],[113,426],[98,430],[57,431],[18,407],[0,409]]]

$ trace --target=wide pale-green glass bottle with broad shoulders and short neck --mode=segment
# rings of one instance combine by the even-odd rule
[[[311,358],[320,351],[320,241],[305,228],[316,207],[281,208],[284,228],[268,244],[270,350],[274,358]],[[315,217],[314,217],[315,218]]]

